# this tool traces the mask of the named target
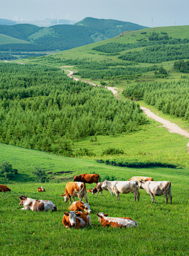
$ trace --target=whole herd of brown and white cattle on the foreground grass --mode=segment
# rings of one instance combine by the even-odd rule
[[[119,194],[128,194],[132,192],[135,199],[139,201],[139,188],[146,190],[147,194],[150,194],[152,202],[156,202],[155,196],[165,195],[165,203],[168,202],[168,195],[170,203],[172,204],[172,194],[171,194],[171,183],[169,181],[154,181],[150,177],[135,176],[128,181],[108,181],[105,180],[102,183],[98,183],[98,174],[83,174],[75,176],[73,182],[69,182],[65,186],[65,194],[61,196],[65,198],[65,202],[69,201],[69,212],[64,213],[62,224],[65,228],[83,228],[86,225],[91,225],[91,213],[90,205],[87,201],[87,193],[95,194],[101,192],[102,190],[109,190],[111,195],[116,194],[117,200],[120,200]],[[86,190],[86,183],[96,183],[95,188],[91,190]],[[0,185],[0,192],[10,191],[10,189],[5,185]],[[38,188],[38,192],[45,192],[43,186]],[[74,198],[78,197],[80,201],[74,201]],[[85,198],[86,203],[82,201]],[[72,201],[71,201],[72,198]],[[54,205],[52,201],[47,200],[35,200],[28,198],[26,196],[20,196],[20,204],[24,205],[25,210],[32,211],[57,211],[57,206]],[[137,227],[135,220],[127,217],[108,217],[108,214],[97,213],[98,220],[101,222],[103,227],[112,226],[114,228],[124,227],[131,228]]]

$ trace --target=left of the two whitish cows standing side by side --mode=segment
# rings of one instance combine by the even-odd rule
[[[132,192],[135,195],[135,199],[137,198],[137,201],[139,201],[139,183],[135,180],[130,181],[108,181],[105,180],[102,183],[102,188],[107,188],[113,192],[113,194],[116,194],[117,200],[120,200],[119,194],[128,194],[129,192]]]

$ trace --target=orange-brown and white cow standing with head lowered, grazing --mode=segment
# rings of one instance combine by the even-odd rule
[[[82,198],[85,198],[85,201],[87,202],[87,192],[86,192],[86,186],[85,183],[74,183],[70,182],[65,185],[65,194],[61,194],[61,197],[65,198],[65,202],[69,200],[71,205],[71,197],[74,201],[75,197],[78,197],[80,201],[82,201]]]

